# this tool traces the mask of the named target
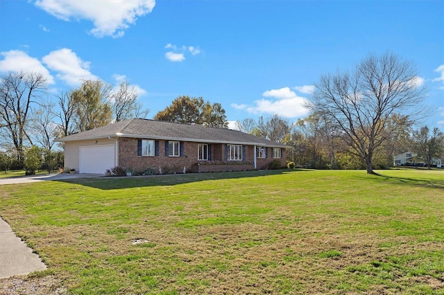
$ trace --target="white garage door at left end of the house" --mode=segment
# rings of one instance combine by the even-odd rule
[[[114,166],[114,145],[80,147],[80,173],[103,174]]]

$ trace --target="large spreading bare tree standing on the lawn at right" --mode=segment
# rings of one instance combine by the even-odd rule
[[[409,120],[420,118],[425,89],[418,83],[411,62],[393,54],[368,55],[352,73],[323,75],[308,107],[339,127],[350,152],[373,172],[373,155],[400,126],[389,118],[400,113]]]

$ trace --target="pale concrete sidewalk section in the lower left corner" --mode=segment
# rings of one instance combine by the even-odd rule
[[[0,278],[42,271],[46,265],[0,218]]]

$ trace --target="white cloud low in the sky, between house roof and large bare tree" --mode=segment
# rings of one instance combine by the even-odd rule
[[[298,118],[306,116],[309,112],[304,107],[307,100],[296,95],[289,87],[267,90],[262,96],[265,98],[255,100],[255,105],[232,104],[232,107],[245,109],[252,114],[277,114],[285,118]]]

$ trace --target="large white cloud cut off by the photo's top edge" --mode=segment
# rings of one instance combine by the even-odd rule
[[[155,0],[37,0],[35,6],[64,21],[92,21],[90,32],[96,37],[121,37],[137,17],[153,10]]]

